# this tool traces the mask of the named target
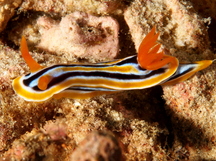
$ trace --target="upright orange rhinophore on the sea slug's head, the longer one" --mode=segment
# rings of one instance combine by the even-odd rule
[[[32,56],[29,54],[27,42],[24,36],[21,39],[21,47],[20,47],[22,57],[24,58],[26,64],[29,66],[31,72],[36,72],[41,70],[43,67],[38,64]]]

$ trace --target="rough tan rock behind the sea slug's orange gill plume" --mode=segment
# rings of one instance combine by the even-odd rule
[[[190,2],[135,0],[124,15],[136,49],[146,30],[156,25],[167,53],[180,61],[206,59],[211,54],[205,19],[195,13]]]

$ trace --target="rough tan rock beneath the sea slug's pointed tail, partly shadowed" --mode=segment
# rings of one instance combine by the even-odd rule
[[[189,81],[163,88],[174,128],[174,147],[186,150],[189,160],[215,159],[215,68],[214,64]]]

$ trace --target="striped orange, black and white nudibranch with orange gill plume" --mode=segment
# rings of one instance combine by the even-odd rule
[[[89,98],[117,91],[135,90],[181,82],[213,60],[179,63],[165,55],[157,43],[155,27],[140,44],[138,55],[96,64],[58,64],[43,67],[29,54],[24,37],[21,53],[31,73],[13,80],[14,91],[26,101],[42,102],[52,97]]]

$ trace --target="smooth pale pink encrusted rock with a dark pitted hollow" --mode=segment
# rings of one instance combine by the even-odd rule
[[[42,35],[38,47],[80,58],[112,60],[118,53],[118,23],[111,17],[74,12],[58,24],[48,17],[37,20]]]

